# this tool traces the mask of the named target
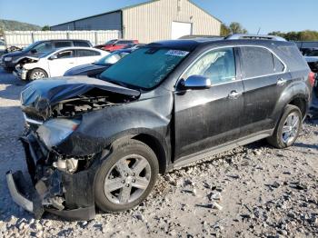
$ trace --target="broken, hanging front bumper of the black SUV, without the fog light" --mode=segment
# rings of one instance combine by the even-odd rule
[[[26,164],[33,184],[26,182],[21,171],[14,174],[11,171],[7,172],[7,186],[14,202],[26,211],[34,213],[36,219],[41,218],[45,211],[67,220],[94,219],[95,166],[92,165],[76,174],[67,174],[55,169],[51,174],[39,178],[38,172],[45,170],[40,145],[34,134],[22,137],[21,141],[24,144]],[[63,203],[58,202],[61,199]]]

